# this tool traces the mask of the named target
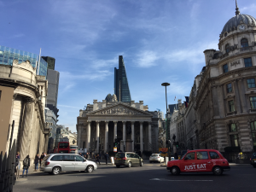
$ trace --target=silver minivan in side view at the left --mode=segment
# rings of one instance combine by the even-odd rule
[[[58,175],[60,172],[93,172],[96,169],[95,162],[85,160],[78,154],[48,154],[42,160],[40,171]]]

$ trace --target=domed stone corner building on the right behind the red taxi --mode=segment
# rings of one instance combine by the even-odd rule
[[[206,69],[195,97],[200,148],[245,156],[256,148],[256,20],[241,15],[225,25],[218,49],[204,51]],[[230,157],[231,159],[236,158]],[[246,157],[245,157],[246,158]]]

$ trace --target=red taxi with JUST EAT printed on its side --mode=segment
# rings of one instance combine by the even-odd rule
[[[181,160],[170,160],[166,169],[172,175],[180,172],[213,172],[222,175],[224,171],[230,171],[230,165],[217,150],[197,149],[188,151]]]

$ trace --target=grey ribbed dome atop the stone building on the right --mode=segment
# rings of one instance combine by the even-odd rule
[[[256,26],[256,20],[251,15],[241,15],[240,13],[232,17],[225,25],[222,30],[224,32],[231,32],[237,29],[240,24],[247,24],[248,26]]]

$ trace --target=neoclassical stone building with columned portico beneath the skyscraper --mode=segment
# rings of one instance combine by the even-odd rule
[[[88,104],[77,119],[78,146],[89,152],[158,151],[158,113],[149,112],[140,102],[118,102],[116,96]]]

